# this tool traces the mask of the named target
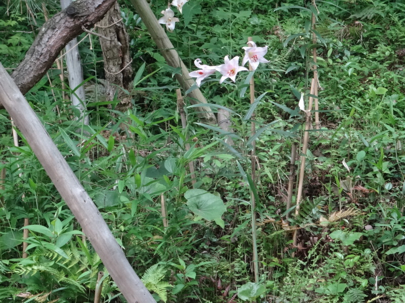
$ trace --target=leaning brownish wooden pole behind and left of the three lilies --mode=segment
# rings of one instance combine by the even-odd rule
[[[180,59],[179,54],[174,48],[165,30],[157,22],[148,3],[146,0],[131,0],[131,3],[135,7],[135,10],[141,17],[148,32],[152,36],[152,39],[155,41],[157,48],[160,50],[161,55],[165,57],[167,63],[172,67],[181,68],[181,73],[176,74],[175,77],[177,81],[179,81],[180,86],[185,91],[188,90],[195,82],[188,75],[189,72],[186,66]],[[197,116],[201,120],[210,124],[217,124],[217,119],[211,111],[211,108],[204,106],[204,103],[207,103],[207,100],[198,88],[190,91],[187,96],[190,97],[191,104],[201,104],[201,107],[196,108]]]

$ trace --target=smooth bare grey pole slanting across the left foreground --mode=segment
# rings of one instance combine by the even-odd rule
[[[0,63],[0,102],[21,130],[67,206],[129,303],[155,303],[86,190]]]

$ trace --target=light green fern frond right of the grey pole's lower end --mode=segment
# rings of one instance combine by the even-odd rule
[[[166,302],[168,299],[167,288],[173,287],[168,282],[161,281],[163,278],[165,278],[165,274],[165,268],[155,264],[146,270],[141,279],[146,288],[149,291],[154,291],[164,302]]]

